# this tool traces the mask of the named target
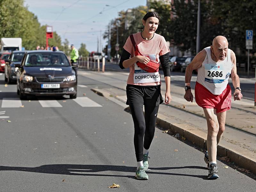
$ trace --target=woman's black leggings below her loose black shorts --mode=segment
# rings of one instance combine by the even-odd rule
[[[143,103],[130,103],[129,106],[134,122],[134,147],[136,159],[137,161],[142,161],[143,146],[145,149],[149,149],[154,138],[159,105],[145,105],[145,117],[143,114]]]

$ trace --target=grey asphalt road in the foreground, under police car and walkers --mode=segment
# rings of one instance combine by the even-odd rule
[[[78,76],[77,100],[20,101],[4,84],[2,75],[0,107],[12,107],[0,109],[0,191],[255,191],[255,180],[220,161],[220,178],[207,180],[204,154],[160,129],[149,180],[136,180],[131,115],[90,90],[108,85]]]

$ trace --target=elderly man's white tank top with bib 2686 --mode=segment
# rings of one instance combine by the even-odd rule
[[[204,48],[206,56],[202,67],[197,69],[196,81],[203,85],[214,95],[220,95],[228,85],[228,78],[231,73],[233,63],[231,62],[230,53],[224,61],[215,62],[211,57],[211,47]]]

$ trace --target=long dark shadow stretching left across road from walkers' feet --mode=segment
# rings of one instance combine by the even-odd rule
[[[62,174],[62,175],[84,175],[84,176],[115,176],[115,177],[128,177],[133,178],[136,167],[130,166],[116,166],[116,165],[73,165],[73,164],[53,164],[43,165],[39,167],[12,167],[12,166],[0,166],[0,171],[24,171],[34,173],[45,174]],[[189,176],[198,177],[207,180],[207,175],[191,175],[191,174],[177,174],[177,173],[164,173],[153,172],[152,170],[169,170],[169,169],[207,169],[201,166],[184,166],[184,167],[153,167],[151,171],[147,171],[148,174],[164,174],[164,175],[177,175],[177,176]],[[114,175],[114,174],[95,174],[97,172],[113,171],[113,172],[131,172],[132,175]],[[81,172],[81,173],[79,173]],[[87,173],[85,173],[87,172]],[[90,173],[90,174],[89,174]]]

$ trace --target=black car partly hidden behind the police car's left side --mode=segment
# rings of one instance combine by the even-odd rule
[[[7,81],[8,84],[17,82],[15,64],[20,64],[24,54],[25,51],[13,51],[9,59],[5,59],[4,80]]]

